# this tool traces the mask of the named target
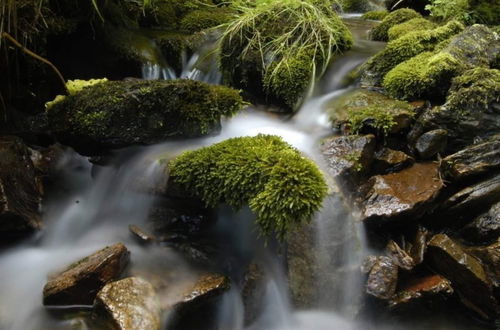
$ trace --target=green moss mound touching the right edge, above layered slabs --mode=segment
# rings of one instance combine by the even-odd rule
[[[457,113],[487,112],[500,102],[500,70],[474,68],[453,79],[446,107]]]

